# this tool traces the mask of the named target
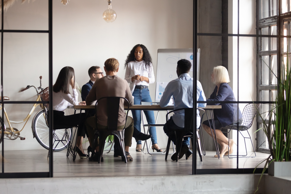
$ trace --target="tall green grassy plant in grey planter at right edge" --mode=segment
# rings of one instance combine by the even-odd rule
[[[263,120],[263,126],[258,130],[263,130],[266,134],[270,149],[270,156],[258,164],[265,161],[262,175],[267,166],[269,175],[290,176],[291,174],[291,71],[288,58],[286,64],[286,66],[284,63],[281,64],[280,72],[276,76],[278,80],[276,103],[267,112],[267,118],[263,119],[258,111]],[[272,126],[274,126],[273,130]]]

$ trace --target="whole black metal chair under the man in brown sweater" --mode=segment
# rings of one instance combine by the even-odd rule
[[[101,162],[101,158],[102,158],[102,154],[103,154],[103,150],[104,150],[104,145],[105,145],[105,140],[106,140],[107,136],[109,136],[109,135],[116,135],[118,137],[121,151],[123,153],[123,156],[122,156],[123,160],[125,161],[125,163],[127,163],[125,146],[124,146],[124,129],[126,126],[127,115],[129,112],[129,102],[124,97],[102,97],[102,98],[98,99],[98,101],[95,104],[95,115],[97,115],[97,103],[98,102],[101,103],[100,100],[102,100],[102,99],[107,99],[107,126],[108,126],[108,129],[98,130],[97,117],[95,116],[96,131],[94,133],[93,148],[96,147],[97,138],[99,136],[99,161],[98,161],[98,163]],[[127,102],[127,113],[126,113],[124,128],[121,130],[117,130],[119,103],[120,103],[121,99],[124,99],[125,102]]]

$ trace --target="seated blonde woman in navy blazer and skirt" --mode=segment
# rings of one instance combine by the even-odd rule
[[[221,146],[219,151],[220,157],[228,155],[228,138],[223,135],[219,130],[222,127],[225,127],[229,124],[234,124],[239,122],[242,123],[242,113],[240,112],[237,104],[223,104],[215,103],[217,101],[235,101],[235,96],[233,90],[228,85],[229,76],[225,67],[217,66],[214,67],[211,74],[211,81],[216,85],[213,93],[210,95],[210,98],[207,99],[207,105],[221,105],[221,109],[214,109],[214,126],[217,136],[217,142]],[[239,111],[239,118],[237,119],[237,111]],[[203,129],[212,137],[214,134],[212,120],[206,120],[203,122]],[[230,139],[229,141],[229,154],[233,153],[233,146],[235,142]],[[215,155],[214,157],[218,157]]]

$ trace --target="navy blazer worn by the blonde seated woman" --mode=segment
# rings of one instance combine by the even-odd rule
[[[220,104],[215,101],[235,101],[233,90],[228,83],[221,83],[217,93],[217,86],[215,86],[210,98],[207,99],[207,105],[221,105],[221,109],[214,109],[214,115],[218,118],[223,127],[236,123],[242,119],[242,113],[240,112],[237,104]],[[237,119],[237,111],[239,111],[239,118]]]

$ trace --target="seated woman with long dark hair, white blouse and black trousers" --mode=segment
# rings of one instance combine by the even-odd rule
[[[72,95],[69,92],[70,86],[73,89]],[[82,147],[83,137],[85,136],[85,133],[87,134],[86,127],[84,127],[86,114],[79,113],[65,115],[64,113],[64,110],[70,105],[86,105],[85,101],[78,102],[78,93],[75,86],[75,73],[72,67],[67,66],[61,69],[56,83],[53,86],[53,91],[54,125],[78,125],[79,134],[77,137],[77,153],[81,159],[88,158],[88,155],[84,154]]]

